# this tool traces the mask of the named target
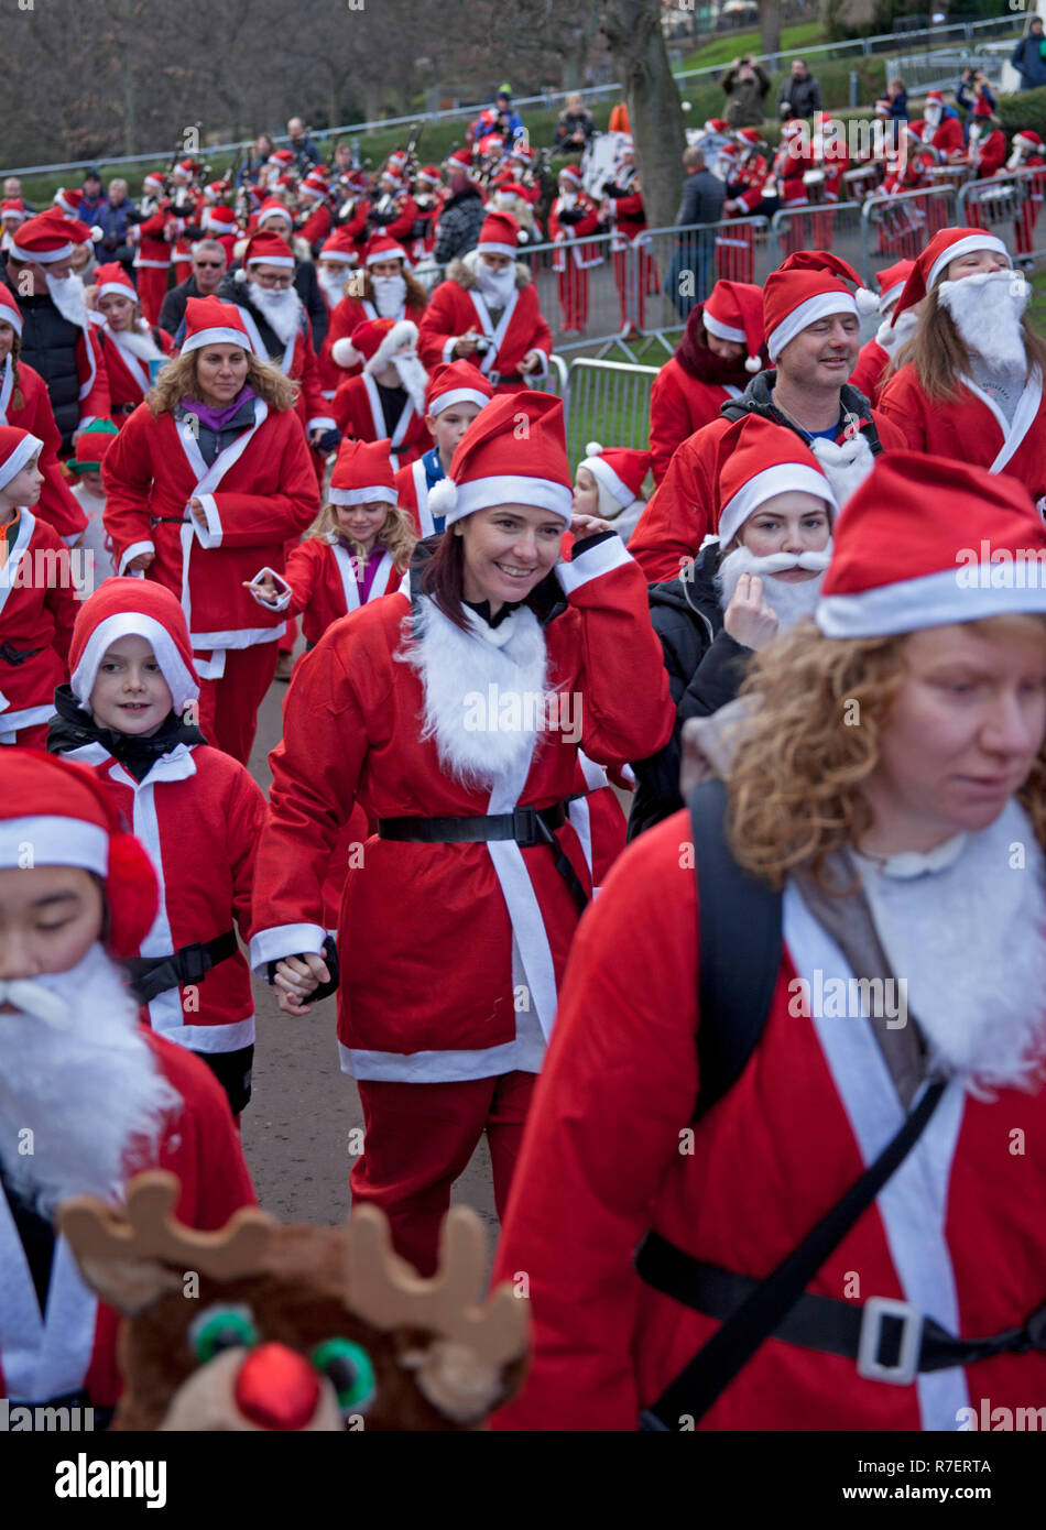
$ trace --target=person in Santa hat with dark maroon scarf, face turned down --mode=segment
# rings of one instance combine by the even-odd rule
[[[740,398],[752,373],[769,366],[763,335],[763,289],[744,282],[715,283],[691,312],[683,338],[654,378],[649,444],[654,483],[688,436]]]

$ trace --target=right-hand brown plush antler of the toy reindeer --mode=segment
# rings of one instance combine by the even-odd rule
[[[467,1345],[479,1360],[507,1365],[527,1351],[527,1302],[501,1285],[478,1307],[482,1276],[482,1222],[464,1206],[444,1218],[440,1268],[430,1281],[392,1252],[389,1224],[377,1207],[352,1213],[348,1300],[375,1328],[429,1328]]]

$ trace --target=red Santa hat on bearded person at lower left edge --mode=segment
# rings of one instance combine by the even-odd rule
[[[25,866],[26,845],[34,866],[103,878],[106,944],[116,958],[133,956],[156,918],[156,872],[92,770],[38,750],[0,753],[0,868]]]

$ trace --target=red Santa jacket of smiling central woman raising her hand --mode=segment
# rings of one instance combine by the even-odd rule
[[[372,819],[548,806],[576,791],[579,745],[593,760],[614,762],[634,754],[639,741],[649,751],[668,737],[672,707],[640,569],[608,536],[561,563],[556,575],[567,609],[547,621],[544,636],[574,715],[561,713],[561,727],[545,728],[528,762],[498,776],[493,789],[444,773],[433,739],[421,737],[421,679],[394,656],[410,612],[406,595],[335,623],[300,661],[283,742],[270,757],[256,967],[320,950],[329,845],[354,803]],[[573,825],[557,837],[588,886]],[[548,846],[505,846],[368,840],[363,864],[348,880],[338,932],[342,970],[351,975],[338,994],[346,1071],[412,1082],[490,1077],[516,1066],[524,1034],[539,1056],[577,907]],[[525,970],[515,993],[513,930]],[[472,961],[447,962],[447,952],[464,949]],[[536,1071],[533,1060],[528,1071]]]

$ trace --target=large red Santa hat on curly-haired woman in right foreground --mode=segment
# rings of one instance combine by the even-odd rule
[[[816,624],[879,638],[1046,612],[1044,568],[1046,526],[1017,479],[888,451],[839,517]]]

